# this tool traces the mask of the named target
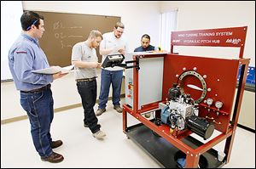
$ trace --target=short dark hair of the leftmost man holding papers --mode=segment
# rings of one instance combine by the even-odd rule
[[[25,11],[20,17],[20,23],[23,31],[28,31],[31,29],[32,25],[35,25],[38,28],[40,24],[40,19],[44,20],[44,16],[32,11]]]

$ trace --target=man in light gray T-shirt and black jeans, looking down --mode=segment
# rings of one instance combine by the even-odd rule
[[[93,136],[102,139],[106,136],[99,125],[93,110],[96,104],[96,68],[100,68],[96,49],[102,42],[102,33],[92,30],[85,42],[73,46],[72,64],[75,66],[75,79],[84,108],[84,127],[89,127]]]

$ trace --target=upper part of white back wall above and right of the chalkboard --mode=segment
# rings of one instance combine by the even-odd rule
[[[22,4],[26,10],[119,16],[125,24],[123,36],[130,50],[141,45],[140,39],[145,33],[150,35],[153,45],[160,44],[160,3],[157,1],[23,1]]]

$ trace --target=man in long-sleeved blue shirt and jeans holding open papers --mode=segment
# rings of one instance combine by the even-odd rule
[[[64,157],[52,149],[62,141],[52,141],[50,124],[54,117],[54,101],[50,83],[67,74],[42,75],[32,70],[49,68],[48,60],[38,43],[44,33],[44,17],[26,11],[20,18],[23,32],[9,49],[9,69],[15,87],[20,90],[20,104],[31,124],[32,140],[42,161],[61,162]]]

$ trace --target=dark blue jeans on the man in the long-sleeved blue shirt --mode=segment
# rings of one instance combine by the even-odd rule
[[[48,157],[52,154],[50,144],[50,124],[54,117],[53,98],[51,90],[37,93],[20,92],[20,104],[31,124],[32,140],[38,154]]]

